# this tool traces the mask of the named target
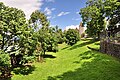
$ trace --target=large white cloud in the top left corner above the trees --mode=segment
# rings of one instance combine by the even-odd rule
[[[0,0],[0,2],[3,2],[7,6],[23,10],[27,19],[30,18],[33,11],[40,10],[43,5],[43,0]]]

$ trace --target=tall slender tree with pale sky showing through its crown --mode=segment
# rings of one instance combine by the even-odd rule
[[[46,51],[46,44],[45,42],[45,36],[48,32],[48,26],[49,22],[47,20],[47,17],[44,15],[44,13],[36,10],[34,11],[30,16],[30,24],[32,24],[32,28],[34,30],[34,33],[36,34],[37,42],[39,43],[40,50],[42,52]],[[41,35],[42,34],[42,35]],[[40,52],[40,51],[39,51]]]

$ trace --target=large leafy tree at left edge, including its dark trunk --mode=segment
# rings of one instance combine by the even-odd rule
[[[0,50],[10,55],[14,67],[21,63],[24,55],[32,51],[27,49],[31,45],[31,29],[23,11],[3,3],[0,5]]]

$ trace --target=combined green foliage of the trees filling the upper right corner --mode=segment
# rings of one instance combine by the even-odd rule
[[[87,24],[88,35],[99,38],[100,32],[105,30],[106,27],[105,19],[111,22],[116,16],[113,23],[116,25],[119,21],[119,7],[120,2],[118,0],[88,0],[86,7],[80,11],[83,22]],[[114,28],[115,26],[111,25],[111,27]]]

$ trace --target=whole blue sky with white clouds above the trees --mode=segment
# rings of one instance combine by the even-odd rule
[[[85,7],[87,0],[0,0],[5,5],[16,7],[25,12],[26,18],[35,10],[47,15],[51,26],[59,26],[65,30],[78,27],[82,21],[80,9]]]

